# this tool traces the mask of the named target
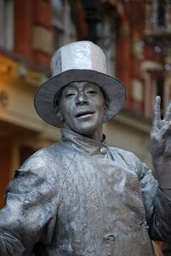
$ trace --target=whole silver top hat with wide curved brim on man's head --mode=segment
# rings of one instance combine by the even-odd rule
[[[105,91],[109,106],[104,123],[123,108],[125,87],[121,81],[106,74],[105,55],[96,44],[89,41],[66,44],[54,52],[51,70],[52,77],[37,90],[34,100],[37,114],[48,124],[61,127],[55,112],[56,95],[72,82],[92,82]]]

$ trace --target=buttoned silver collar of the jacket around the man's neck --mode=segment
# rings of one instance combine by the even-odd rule
[[[103,135],[103,141],[100,143],[66,129],[61,129],[61,134],[63,141],[72,143],[77,149],[86,151],[88,154],[106,154],[108,152],[105,135]]]

